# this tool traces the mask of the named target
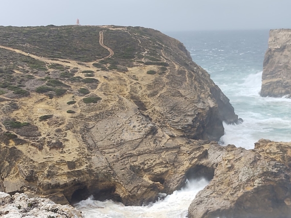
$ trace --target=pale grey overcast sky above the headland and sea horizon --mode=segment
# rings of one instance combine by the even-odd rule
[[[166,31],[291,28],[291,0],[0,0],[0,26],[122,25]]]

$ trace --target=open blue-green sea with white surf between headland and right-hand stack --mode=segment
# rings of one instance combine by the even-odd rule
[[[260,138],[291,141],[291,100],[259,96],[268,30],[167,34],[186,46],[244,120],[224,125],[222,144],[252,149]]]

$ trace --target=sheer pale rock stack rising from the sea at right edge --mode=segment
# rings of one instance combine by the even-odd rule
[[[269,48],[266,51],[262,87],[262,97],[291,97],[291,30],[271,30]]]

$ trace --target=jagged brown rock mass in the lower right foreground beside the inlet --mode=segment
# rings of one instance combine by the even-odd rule
[[[189,218],[291,218],[291,143],[261,139],[254,150],[208,149],[200,164],[213,179],[189,207]],[[203,163],[204,162],[204,163]]]

